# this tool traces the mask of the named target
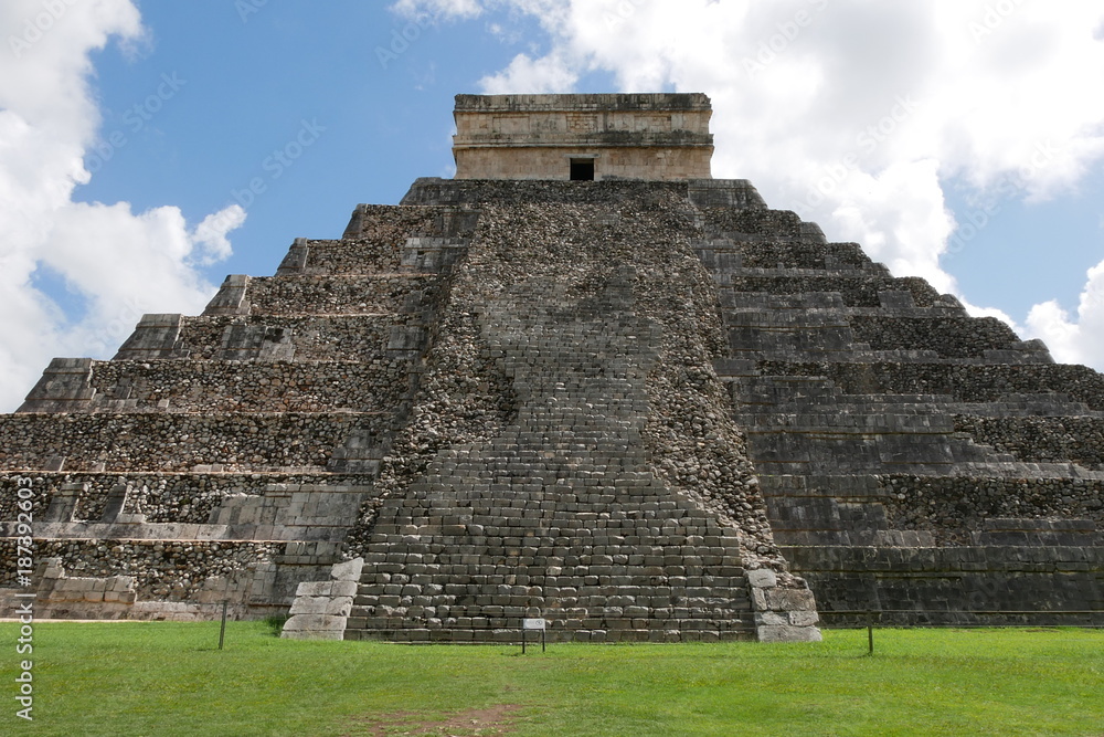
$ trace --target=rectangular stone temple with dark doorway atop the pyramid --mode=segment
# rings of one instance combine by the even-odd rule
[[[457,179],[709,179],[709,97],[457,95]]]

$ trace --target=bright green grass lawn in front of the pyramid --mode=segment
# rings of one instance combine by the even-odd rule
[[[231,623],[219,651],[217,622],[39,622],[33,723],[14,716],[17,638],[0,624],[2,735],[1104,736],[1100,631],[879,630],[873,656],[866,631],[521,656],[295,642],[262,622]]]

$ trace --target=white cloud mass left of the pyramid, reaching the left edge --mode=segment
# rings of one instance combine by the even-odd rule
[[[0,28],[0,410],[17,407],[51,357],[109,356],[144,312],[198,312],[214,287],[197,271],[230,254],[236,206],[190,229],[180,210],[73,200],[100,116],[91,54],[145,40],[131,0],[7,0]],[[74,314],[50,295],[67,292]]]

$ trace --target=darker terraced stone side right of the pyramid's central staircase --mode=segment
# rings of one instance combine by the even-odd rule
[[[716,370],[820,615],[1104,621],[1104,378],[792,214],[703,215]]]

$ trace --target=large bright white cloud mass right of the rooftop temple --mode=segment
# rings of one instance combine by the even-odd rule
[[[767,202],[955,294],[940,262],[963,225],[947,209],[949,182],[1041,201],[1104,158],[1104,96],[1084,86],[1104,78],[1095,0],[403,0],[397,9],[539,19],[546,53],[516,57],[482,81],[487,92],[562,91],[601,71],[626,92],[708,93],[714,176],[752,179]],[[1092,278],[1076,316],[1040,305],[1029,330],[1057,356],[1104,368]]]

